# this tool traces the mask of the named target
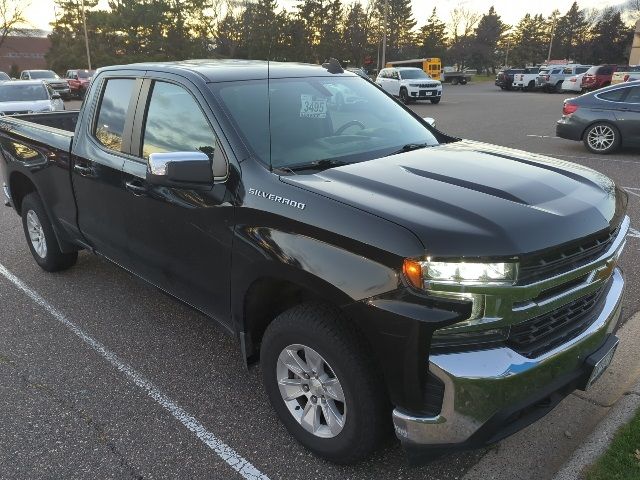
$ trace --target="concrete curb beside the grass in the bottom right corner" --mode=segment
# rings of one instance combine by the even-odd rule
[[[555,474],[553,480],[581,480],[587,467],[606,451],[616,432],[629,423],[640,408],[640,381],[614,404],[584,443]]]

